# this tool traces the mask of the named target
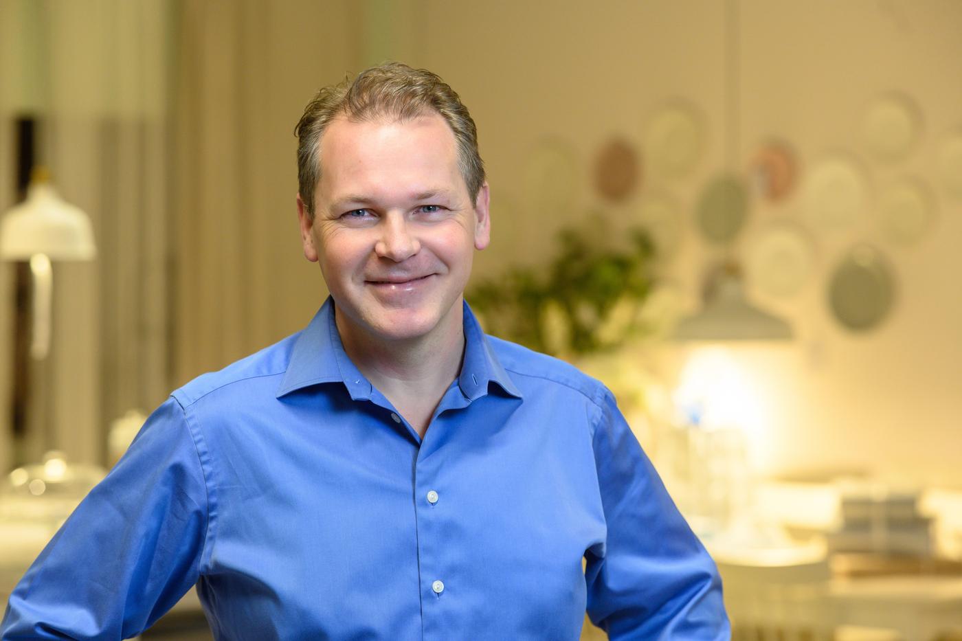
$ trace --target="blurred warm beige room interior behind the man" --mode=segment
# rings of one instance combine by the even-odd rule
[[[0,596],[144,413],[311,319],[293,126],[391,59],[478,125],[468,301],[616,392],[736,636],[957,633],[960,33],[956,0],[0,0]],[[74,244],[31,248],[53,190]]]

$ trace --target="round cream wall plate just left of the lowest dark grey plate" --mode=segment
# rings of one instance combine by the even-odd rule
[[[748,283],[774,296],[797,294],[812,273],[815,251],[800,227],[775,223],[748,244],[745,270]]]

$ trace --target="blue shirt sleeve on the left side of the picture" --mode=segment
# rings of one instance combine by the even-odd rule
[[[197,581],[208,526],[197,452],[168,398],[14,588],[3,641],[126,639],[177,603]]]

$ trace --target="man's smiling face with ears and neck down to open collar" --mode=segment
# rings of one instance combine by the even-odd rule
[[[314,200],[298,195],[297,212],[304,255],[320,263],[336,301],[344,350],[423,437],[461,367],[462,295],[490,218],[487,183],[468,192],[453,131],[420,109],[330,122],[317,144]]]

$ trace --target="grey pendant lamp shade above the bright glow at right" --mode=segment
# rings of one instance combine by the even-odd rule
[[[733,263],[709,276],[704,305],[698,313],[679,321],[676,341],[787,341],[792,327],[748,302],[740,270]]]

